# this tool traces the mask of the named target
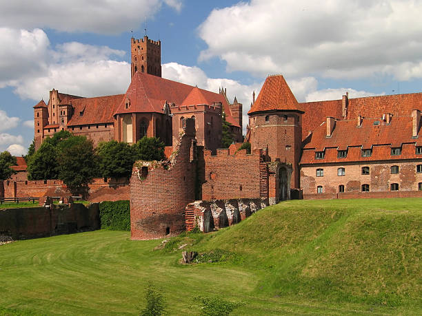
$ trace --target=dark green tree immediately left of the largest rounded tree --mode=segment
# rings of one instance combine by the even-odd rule
[[[41,147],[28,160],[29,180],[57,179],[57,151],[49,142]]]

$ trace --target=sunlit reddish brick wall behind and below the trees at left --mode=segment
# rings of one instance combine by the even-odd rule
[[[94,178],[89,185],[90,202],[129,200],[129,182],[125,178]],[[61,180],[1,180],[0,198],[41,198],[42,196],[69,196]]]

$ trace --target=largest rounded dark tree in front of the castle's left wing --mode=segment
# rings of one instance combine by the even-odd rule
[[[70,143],[73,141],[70,140]],[[86,198],[88,184],[96,176],[98,167],[92,141],[85,138],[71,146],[63,147],[63,150],[59,152],[57,162],[59,179],[66,184],[72,194],[81,194],[83,198]]]

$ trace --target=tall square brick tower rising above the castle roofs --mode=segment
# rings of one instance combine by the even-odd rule
[[[148,36],[143,39],[130,39],[131,67],[130,78],[136,72],[145,72],[161,77],[161,41],[152,41]]]

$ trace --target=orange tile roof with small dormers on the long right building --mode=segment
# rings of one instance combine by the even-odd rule
[[[326,132],[325,123],[316,127],[310,142],[304,146],[301,164],[422,159],[421,155],[415,154],[416,139],[412,138],[411,116],[393,116],[390,125],[376,118],[363,119],[361,127],[357,127],[357,119],[337,120],[332,136],[326,137]],[[421,130],[417,140],[420,138],[422,138]],[[391,156],[392,147],[402,147],[401,155]],[[361,157],[361,149],[371,148],[372,156]],[[337,158],[337,150],[346,149],[348,149],[347,157]],[[315,159],[315,151],[324,150],[325,157]]]

